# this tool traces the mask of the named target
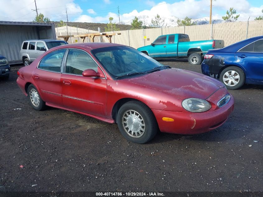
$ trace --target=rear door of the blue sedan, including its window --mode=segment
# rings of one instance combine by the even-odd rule
[[[263,82],[263,39],[239,49],[235,59],[246,69],[246,77]]]

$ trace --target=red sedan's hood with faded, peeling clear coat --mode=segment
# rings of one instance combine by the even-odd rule
[[[207,99],[215,91],[224,87],[223,83],[211,77],[176,68],[123,80],[165,92],[182,100]]]

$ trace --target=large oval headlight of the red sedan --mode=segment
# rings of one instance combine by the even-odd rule
[[[197,98],[188,98],[182,102],[183,108],[191,112],[204,112],[211,108],[211,104],[208,101],[197,99]]]

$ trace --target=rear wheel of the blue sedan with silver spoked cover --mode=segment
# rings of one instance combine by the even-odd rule
[[[244,85],[246,77],[241,68],[230,66],[221,72],[219,80],[227,87],[227,89],[235,90]]]

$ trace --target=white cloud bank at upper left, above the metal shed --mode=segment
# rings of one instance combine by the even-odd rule
[[[35,9],[35,2],[31,0],[0,0],[0,5],[2,21],[33,21],[36,16],[36,12],[31,10]],[[38,13],[43,13],[51,21],[66,21],[66,7],[69,19],[75,13],[82,13],[82,9],[74,0],[64,0],[63,3],[60,0],[36,1],[36,5]]]

